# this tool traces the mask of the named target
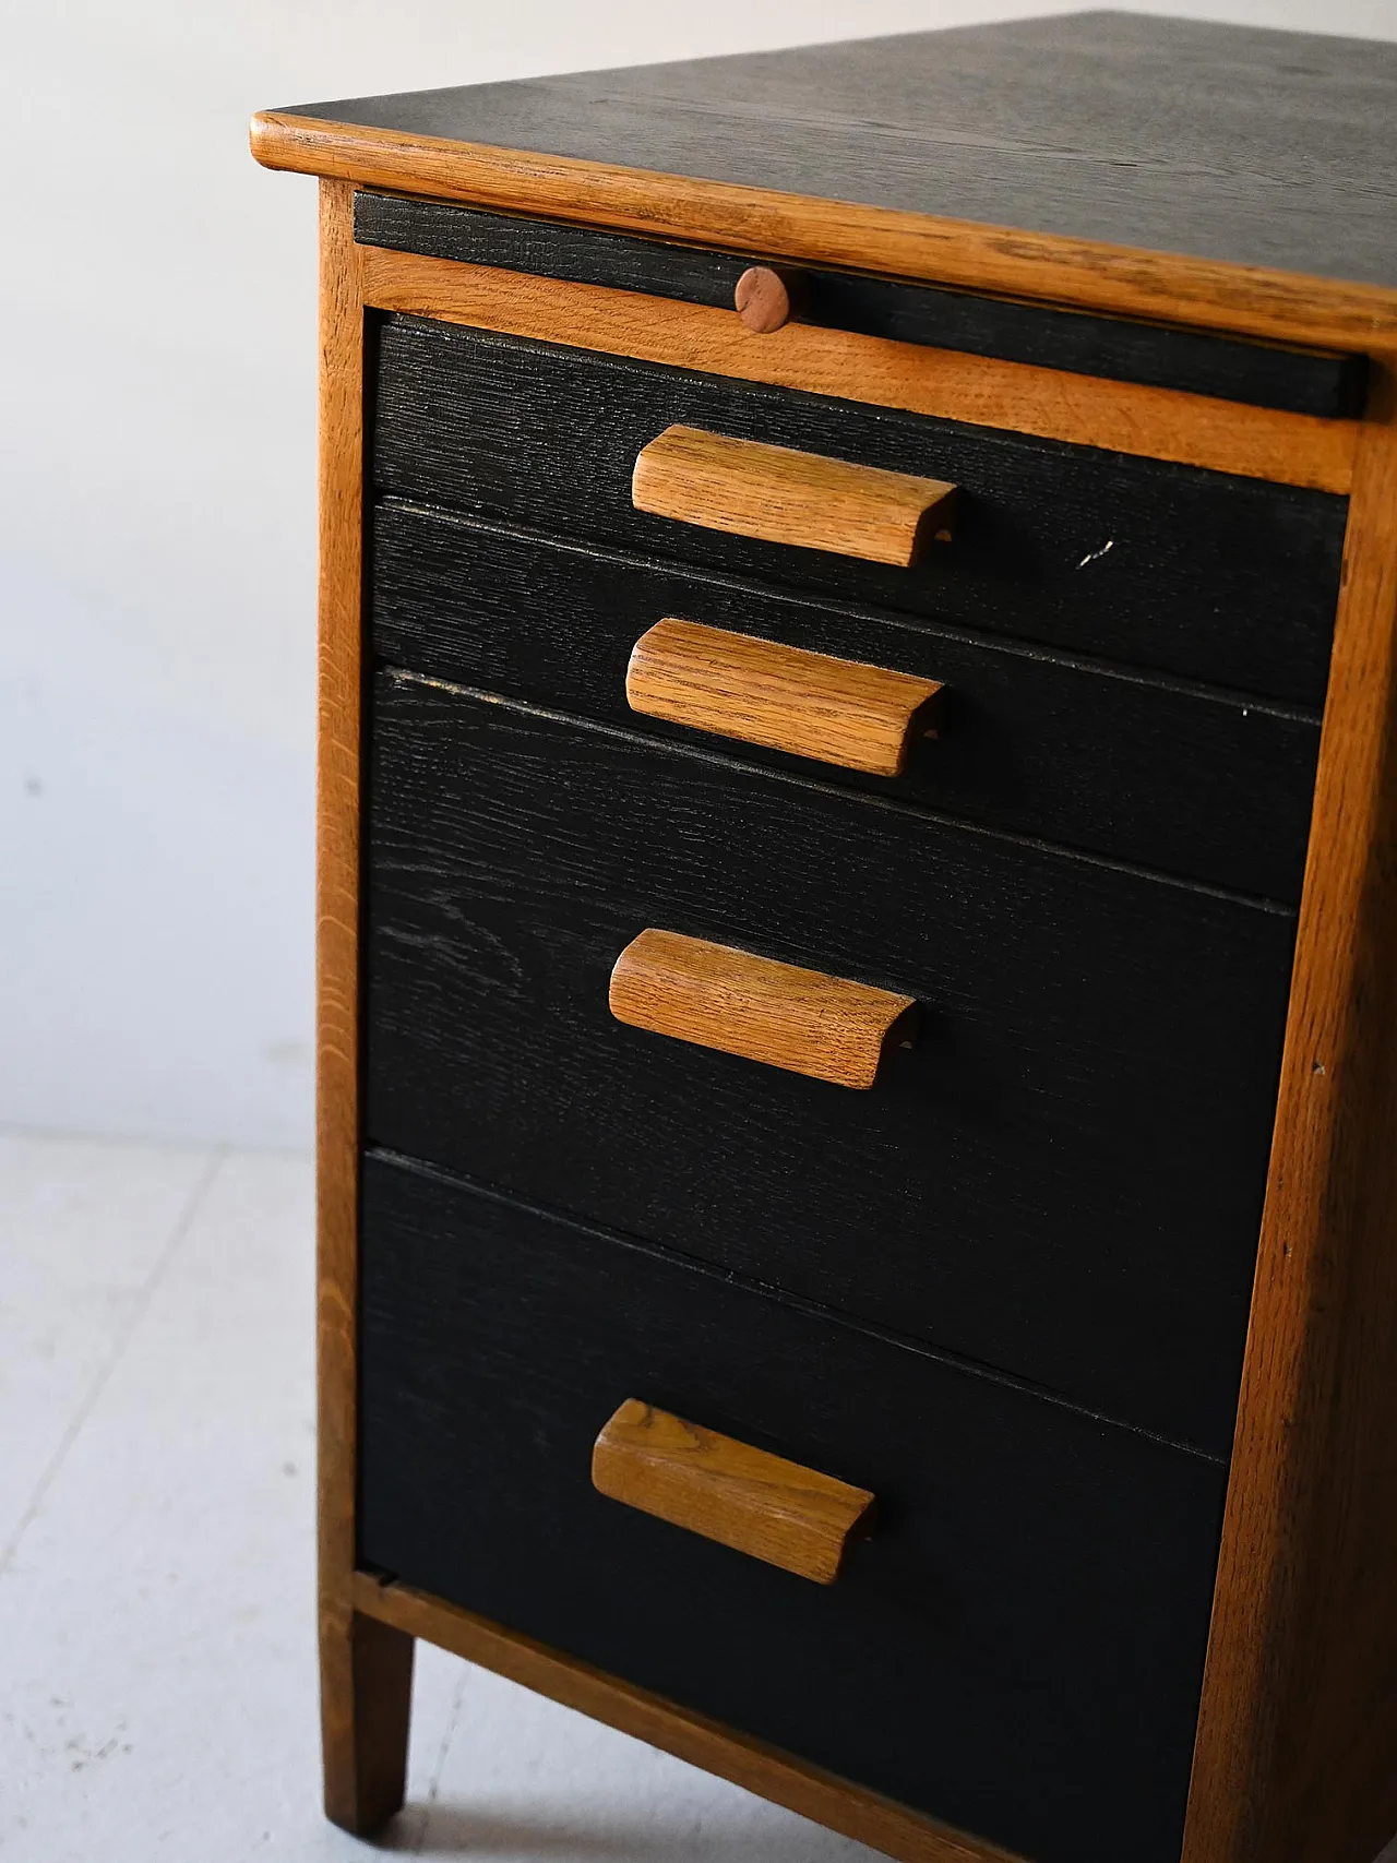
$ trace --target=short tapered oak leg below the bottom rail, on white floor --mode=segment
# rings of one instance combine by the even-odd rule
[[[412,1638],[358,1611],[320,1625],[326,1816],[363,1837],[402,1809]]]

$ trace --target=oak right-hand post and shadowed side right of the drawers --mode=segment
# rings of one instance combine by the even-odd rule
[[[1187,1863],[1367,1863],[1397,1829],[1395,373],[1354,490]]]

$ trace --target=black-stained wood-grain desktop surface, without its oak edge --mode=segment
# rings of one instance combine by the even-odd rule
[[[1397,45],[1077,13],[298,108],[1397,287]]]

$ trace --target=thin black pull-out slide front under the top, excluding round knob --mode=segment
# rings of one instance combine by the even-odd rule
[[[736,253],[367,188],[354,196],[354,238],[389,252],[641,291],[725,311],[732,311],[734,287],[753,263]],[[1039,369],[1069,369],[1328,419],[1362,412],[1367,376],[1358,356],[1242,343],[1166,324],[1088,317],[808,266],[801,270],[799,317],[896,343],[1000,356]]]

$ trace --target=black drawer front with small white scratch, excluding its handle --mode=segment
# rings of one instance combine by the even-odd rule
[[[1343,497],[410,317],[376,384],[382,492],[1322,702]],[[676,421],[950,479],[956,540],[900,570],[639,512],[635,455]]]

